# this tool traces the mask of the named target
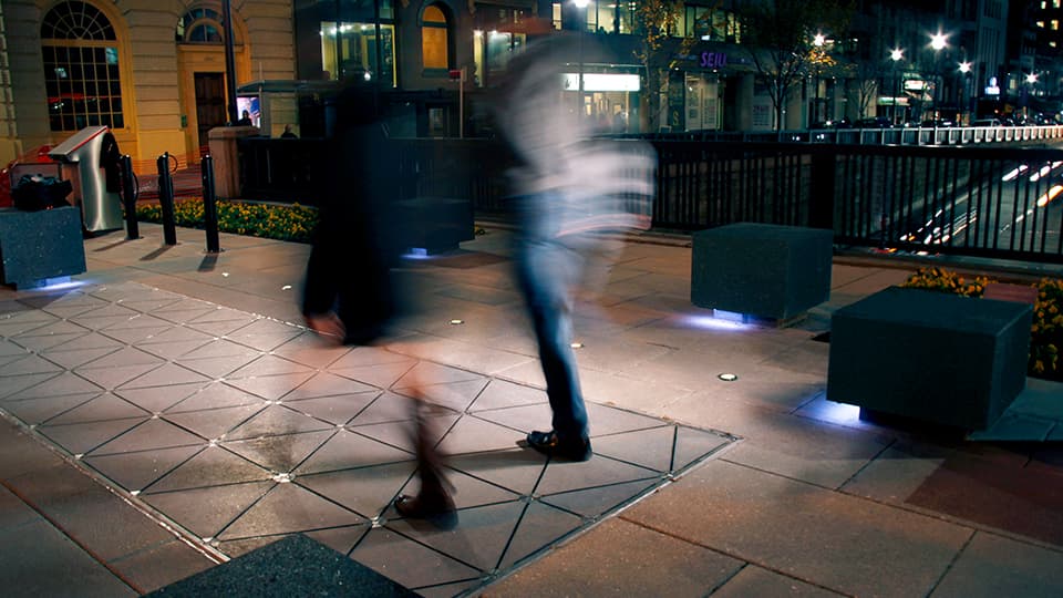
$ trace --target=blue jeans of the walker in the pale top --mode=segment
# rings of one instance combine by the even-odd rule
[[[517,203],[522,219],[514,247],[517,281],[539,346],[554,431],[563,439],[587,437],[587,408],[571,347],[571,285],[582,259],[551,234],[546,197],[522,197]]]

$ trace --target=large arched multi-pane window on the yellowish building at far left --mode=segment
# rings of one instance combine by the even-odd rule
[[[41,53],[52,131],[125,126],[117,37],[100,9],[76,0],[52,7],[41,22]]]

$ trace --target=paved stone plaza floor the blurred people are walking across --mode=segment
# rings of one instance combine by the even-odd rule
[[[143,594],[299,530],[430,596],[1063,594],[1059,446],[877,426],[824,396],[830,312],[907,270],[839,259],[806,320],[721,326],[690,305],[682,241],[623,245],[576,322],[596,468],[550,477],[510,444],[548,410],[505,230],[414,265],[425,310],[353,351],[298,328],[308,247],[223,235],[207,256],[202,231],[171,248],[142,234],[87,240],[80,287],[0,289],[0,579],[16,594]],[[477,426],[448,429],[452,530],[384,511],[412,472],[401,416],[358,420],[401,402],[410,368],[437,377],[441,416]],[[355,471],[388,473],[341,480]],[[530,508],[559,518],[518,525]]]

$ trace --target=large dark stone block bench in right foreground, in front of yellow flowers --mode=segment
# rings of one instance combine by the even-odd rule
[[[891,287],[830,319],[827,399],[985,430],[1025,388],[1033,309]]]

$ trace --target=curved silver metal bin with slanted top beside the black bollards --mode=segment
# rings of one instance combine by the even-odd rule
[[[122,228],[118,146],[106,126],[82,128],[53,147],[48,156],[75,165],[79,185],[74,185],[74,197],[81,203],[85,230],[99,233]]]

